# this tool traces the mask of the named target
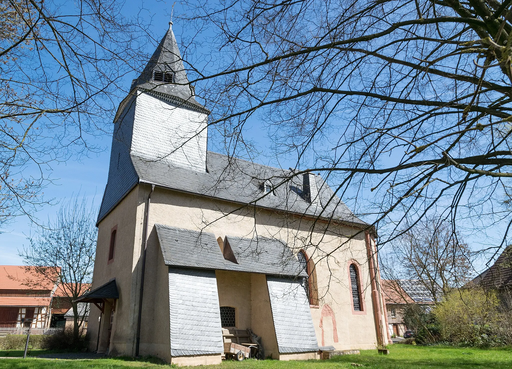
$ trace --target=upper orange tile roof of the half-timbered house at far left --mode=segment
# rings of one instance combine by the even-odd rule
[[[37,273],[34,267],[0,265],[0,289],[53,290],[52,281]]]

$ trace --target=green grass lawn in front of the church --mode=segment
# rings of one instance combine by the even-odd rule
[[[23,354],[23,353],[22,353]],[[342,369],[353,368],[351,363],[376,369],[509,369],[512,367],[512,350],[454,349],[440,347],[418,347],[395,344],[391,354],[379,355],[375,350],[362,351],[361,355],[338,356],[331,360],[319,361],[277,361],[245,360],[226,361],[203,369]],[[98,368],[98,369],[164,369],[169,367],[155,360],[134,361],[130,359],[95,360],[45,360],[45,359],[0,359],[0,368],[39,369],[39,368]]]

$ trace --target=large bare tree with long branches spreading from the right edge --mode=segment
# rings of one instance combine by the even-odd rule
[[[219,148],[251,158],[259,118],[276,160],[300,169],[290,177],[323,173],[381,245],[432,214],[502,222],[506,244],[509,1],[183,4],[186,68]]]

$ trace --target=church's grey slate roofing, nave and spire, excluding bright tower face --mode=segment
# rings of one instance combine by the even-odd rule
[[[164,70],[175,73],[175,83],[162,84],[152,80],[154,71]],[[188,108],[209,113],[197,103],[188,85],[180,85],[186,83],[188,79],[178,44],[172,29],[169,28],[144,71],[134,80],[131,93],[119,105],[115,119],[108,184],[97,223],[113,210],[137,183],[146,182],[240,204],[255,204],[297,215],[321,216],[367,225],[354,216],[319,175],[314,176],[318,196],[311,202],[306,194],[302,193],[302,176],[293,177],[291,181],[276,187],[292,176],[293,173],[289,170],[259,165],[211,151],[206,154],[205,172],[179,167],[166,160],[155,161],[135,155],[131,150],[135,117],[133,102],[138,91],[146,91],[178,106],[185,104]],[[124,118],[118,119],[121,113],[124,114]],[[267,180],[275,188],[272,193],[263,196],[262,185]]]

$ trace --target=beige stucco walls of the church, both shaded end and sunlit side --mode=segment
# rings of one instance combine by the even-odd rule
[[[110,355],[135,354],[138,302],[141,279],[144,221],[151,186],[137,185],[98,224],[98,243],[92,288],[115,278],[119,299],[112,315],[106,306],[98,330],[100,311],[91,308],[88,334],[90,349]],[[241,210],[237,210],[241,209]],[[160,250],[155,223],[205,230],[216,237],[275,237],[295,252],[303,249],[315,264],[318,306],[311,306],[318,345],[336,350],[372,349],[377,346],[377,327],[372,301],[365,234],[349,225],[330,225],[280,212],[248,209],[223,200],[204,198],[156,187],[148,218],[148,239],[141,315],[140,355],[154,355],[179,365],[219,363],[220,355],[170,356],[168,267]],[[111,231],[117,227],[114,260],[108,263]],[[353,237],[356,233],[356,235]],[[352,239],[350,239],[353,237]],[[350,240],[349,240],[350,239]],[[349,263],[360,273],[363,311],[352,307]],[[316,353],[280,354],[272,321],[270,299],[264,274],[217,270],[220,306],[237,311],[237,328],[250,328],[262,337],[265,355],[274,359],[317,358]],[[380,301],[380,306],[383,304]],[[381,309],[380,321],[386,322]],[[386,328],[384,328],[386,329]]]

